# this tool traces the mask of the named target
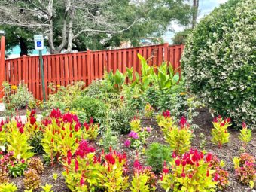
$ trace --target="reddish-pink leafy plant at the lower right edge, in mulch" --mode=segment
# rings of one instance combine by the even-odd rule
[[[255,158],[251,154],[243,153],[240,157],[234,157],[233,163],[239,182],[253,188],[256,182]]]

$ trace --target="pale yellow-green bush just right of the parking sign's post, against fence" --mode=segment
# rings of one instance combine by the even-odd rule
[[[59,84],[49,84],[52,94],[48,96],[46,105],[48,108],[59,108],[65,111],[70,108],[72,102],[81,96],[81,90],[84,88],[84,81],[78,81],[68,86],[60,86]]]

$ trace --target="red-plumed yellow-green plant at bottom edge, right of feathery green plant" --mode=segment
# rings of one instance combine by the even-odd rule
[[[203,152],[190,149],[189,152],[179,156],[172,154],[170,162],[171,171],[163,166],[163,175],[159,183],[166,191],[215,191],[216,182],[213,181],[214,170],[210,161],[212,154],[204,155]]]

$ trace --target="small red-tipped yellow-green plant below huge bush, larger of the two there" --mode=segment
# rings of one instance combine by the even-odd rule
[[[221,115],[215,117],[212,124],[212,142],[218,145],[218,148],[222,148],[222,145],[230,141],[230,133],[227,128],[231,126],[230,118],[223,119]]]

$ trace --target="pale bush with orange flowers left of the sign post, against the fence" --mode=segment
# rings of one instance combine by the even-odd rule
[[[18,84],[18,86],[4,82],[2,86],[4,87],[5,93],[2,102],[5,104],[5,113],[9,115],[14,114],[17,109],[26,108],[30,102],[34,102],[35,100],[23,82]]]

